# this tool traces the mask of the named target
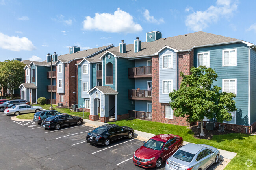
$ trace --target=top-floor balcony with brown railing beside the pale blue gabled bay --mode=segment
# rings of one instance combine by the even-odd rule
[[[128,68],[129,78],[152,77],[152,66]]]

